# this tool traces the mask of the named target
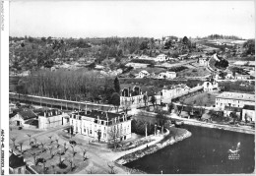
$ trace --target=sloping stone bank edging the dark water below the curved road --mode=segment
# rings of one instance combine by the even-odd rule
[[[182,141],[186,138],[189,138],[192,134],[185,130],[185,129],[178,129],[179,131],[182,130],[183,132],[177,136],[172,136],[172,134],[170,133],[168,136],[164,137],[159,143],[152,145],[152,146],[148,146],[139,150],[136,150],[135,152],[126,154],[124,156],[121,156],[120,158],[118,158],[117,160],[115,160],[115,162],[117,164],[126,164],[128,162],[134,161],[136,159],[139,159],[145,155],[148,154],[152,154],[156,151],[158,151],[159,149],[163,148],[163,147],[167,147],[169,145],[173,145],[174,143],[177,143],[179,141]]]

